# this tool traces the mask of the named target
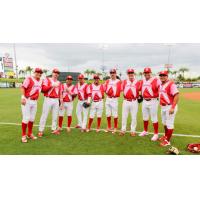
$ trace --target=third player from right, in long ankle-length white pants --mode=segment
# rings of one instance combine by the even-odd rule
[[[131,136],[136,136],[135,129],[137,126],[137,112],[138,112],[138,101],[140,82],[135,79],[134,70],[127,70],[128,79],[122,82],[122,91],[124,95],[122,105],[122,129],[119,133],[120,136],[125,135],[127,118],[129,113],[131,114]]]

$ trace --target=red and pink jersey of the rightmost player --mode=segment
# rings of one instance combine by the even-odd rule
[[[167,81],[160,85],[159,95],[160,95],[160,105],[172,105],[174,101],[175,94],[179,93],[177,86],[172,81]]]

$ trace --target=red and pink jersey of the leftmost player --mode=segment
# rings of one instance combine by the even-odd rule
[[[42,89],[42,80],[37,80],[34,77],[28,77],[24,80],[22,87],[24,88],[24,95],[26,98],[37,100]]]

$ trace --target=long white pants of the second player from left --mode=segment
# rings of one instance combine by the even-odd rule
[[[56,126],[57,126],[57,118],[58,118],[58,112],[59,112],[59,99],[49,98],[49,97],[44,98],[42,116],[40,118],[40,125],[39,125],[40,132],[44,131],[47,117],[48,117],[50,111],[52,111],[51,129],[54,131],[54,130],[56,130]]]

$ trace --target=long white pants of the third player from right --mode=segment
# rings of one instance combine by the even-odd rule
[[[126,131],[127,118],[131,114],[131,132],[135,132],[137,126],[138,101],[127,101],[122,104],[122,131]]]

